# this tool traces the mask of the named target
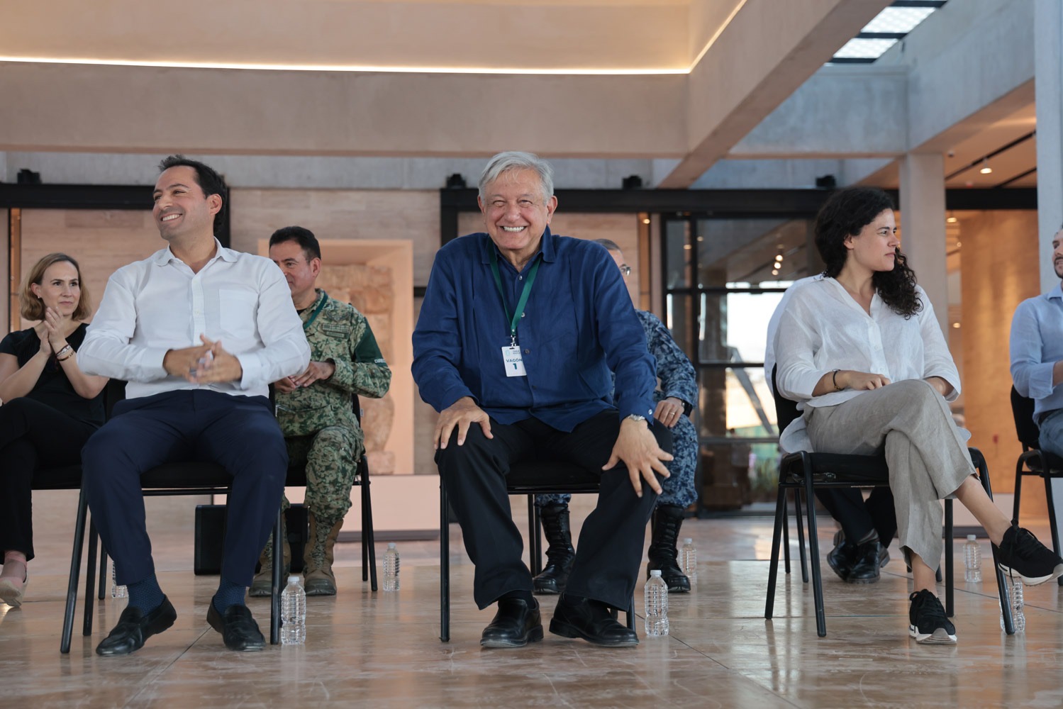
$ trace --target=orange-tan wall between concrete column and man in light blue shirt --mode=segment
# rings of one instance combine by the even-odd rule
[[[1011,415],[1008,339],[1018,304],[1039,292],[1035,212],[982,212],[961,219],[964,413],[995,492],[1014,490],[1022,445]],[[1023,512],[1045,517],[1044,487],[1026,485]]]

